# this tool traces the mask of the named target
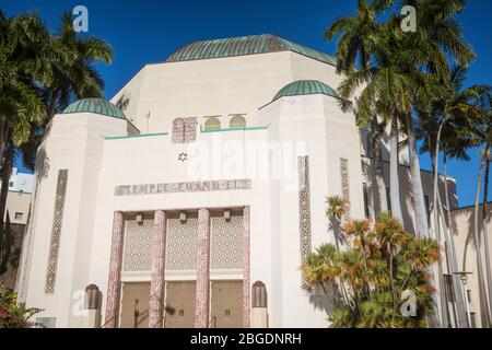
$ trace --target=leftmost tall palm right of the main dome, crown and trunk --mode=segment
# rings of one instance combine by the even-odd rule
[[[376,16],[383,12],[390,1],[375,0],[370,4],[365,0],[358,2],[358,13],[354,16],[341,18],[336,20],[325,32],[325,39],[329,40],[340,36],[337,43],[337,72],[349,74],[355,69],[359,59],[361,69],[367,69],[371,66],[371,52],[368,50],[368,40],[375,35],[379,27]],[[364,125],[361,125],[362,127]],[[378,122],[377,115],[371,117],[372,132],[372,167],[376,179],[376,188],[380,211],[388,210],[386,200],[386,185],[384,179],[384,163],[382,156],[382,133],[384,127]]]

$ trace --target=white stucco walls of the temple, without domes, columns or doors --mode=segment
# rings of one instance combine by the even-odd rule
[[[270,327],[326,327],[326,301],[303,288],[300,267],[308,252],[302,242],[308,240],[314,249],[331,241],[327,196],[348,196],[350,215],[364,218],[363,184],[370,190],[372,184],[368,160],[361,155],[354,114],[342,108],[340,98],[312,92],[272,100],[297,81],[336,90],[342,79],[332,65],[293,50],[167,61],[145,66],[112,98],[115,104],[128,98],[126,119],[94,112],[56,115],[38,150],[20,299],[43,308],[38,316],[51,326],[82,327],[83,290],[96,284],[104,324],[115,212],[136,220],[157,210],[194,215],[206,208],[222,215],[247,207],[249,243],[242,252],[249,253],[249,266],[243,257],[241,268],[210,268],[209,279],[242,280],[246,289],[265,283]],[[230,128],[237,114],[246,127]],[[219,129],[207,129],[210,116],[218,116]],[[192,141],[173,141],[176,118],[195,118]],[[303,176],[308,182],[300,186]],[[405,162],[401,176],[408,178]],[[422,176],[431,195],[431,175]],[[210,182],[212,189],[203,188]],[[235,182],[247,186],[235,187]],[[214,189],[218,184],[225,188]],[[120,186],[128,187],[118,192]],[[405,186],[403,211],[411,226],[411,190],[403,180]],[[308,196],[307,203],[302,196]],[[373,208],[375,192],[368,198]],[[150,269],[119,273],[120,283],[152,280]],[[164,281],[198,278],[196,268],[165,269],[163,276]]]

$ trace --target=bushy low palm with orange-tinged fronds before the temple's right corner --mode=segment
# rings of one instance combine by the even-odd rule
[[[379,214],[375,224],[353,220],[344,228],[347,249],[324,244],[302,267],[307,282],[333,300],[333,308],[327,310],[331,326],[425,327],[433,293],[426,270],[440,259],[436,242],[413,237],[387,213]],[[347,284],[345,294],[338,292],[338,284]],[[398,312],[402,303],[397,296],[403,291],[415,296],[412,317]]]

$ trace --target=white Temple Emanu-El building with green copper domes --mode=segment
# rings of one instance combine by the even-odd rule
[[[110,101],[71,104],[38,149],[20,301],[45,327],[326,327],[300,268],[333,240],[326,197],[350,218],[378,208],[343,78],[324,52],[253,35],[188,44]]]

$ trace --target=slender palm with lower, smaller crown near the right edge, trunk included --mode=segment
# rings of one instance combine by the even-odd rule
[[[454,67],[446,79],[441,84],[443,89],[440,95],[435,96],[431,107],[426,112],[419,110],[420,130],[419,137],[423,139],[421,152],[427,151],[431,154],[431,162],[434,173],[434,226],[436,235],[440,233],[440,211],[441,202],[438,192],[438,158],[441,150],[444,154],[444,191],[446,202],[447,226],[444,232],[446,255],[449,261],[450,273],[453,275],[453,285],[457,302],[457,318],[460,327],[467,327],[467,316],[465,307],[465,295],[461,293],[460,280],[457,275],[459,271],[458,259],[456,256],[454,233],[452,232],[450,208],[448,197],[448,184],[446,178],[447,156],[468,160],[466,150],[477,145],[476,140],[469,130],[470,122],[478,118],[480,110],[476,107],[473,101],[478,96],[475,86],[462,90],[467,69],[462,66]]]

